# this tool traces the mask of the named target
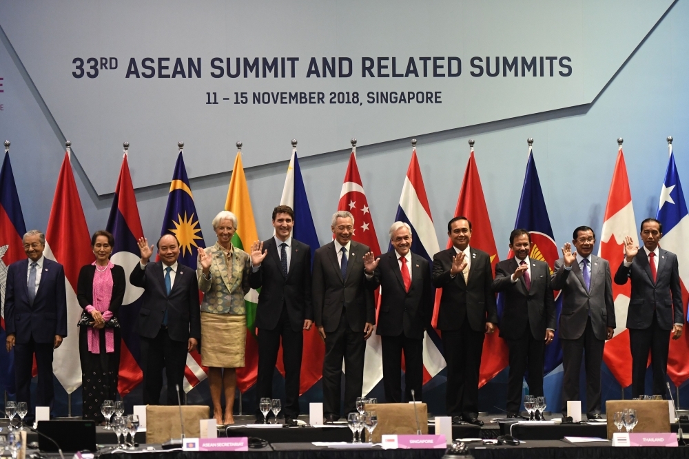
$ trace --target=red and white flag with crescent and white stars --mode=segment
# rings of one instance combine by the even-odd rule
[[[354,230],[352,239],[358,243],[368,245],[373,255],[380,256],[380,245],[376,229],[373,228],[373,220],[369,211],[369,203],[366,200],[364,187],[356,167],[356,140],[351,141],[352,149],[349,156],[349,165],[345,174],[345,182],[342,183],[340,203],[338,210],[347,210],[354,216]],[[376,317],[378,317],[379,292],[376,292]],[[346,369],[345,369],[346,371]],[[380,348],[380,336],[373,330],[371,338],[366,341],[366,354],[364,354],[364,385],[362,396],[368,394],[373,387],[383,378],[382,350]]]

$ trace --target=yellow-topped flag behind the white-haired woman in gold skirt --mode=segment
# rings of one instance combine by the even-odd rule
[[[225,210],[237,216],[237,231],[232,236],[232,245],[245,252],[254,241],[258,241],[254,210],[251,209],[247,178],[242,165],[242,152],[237,152],[232,168],[232,179],[229,180]],[[258,306],[258,292],[251,289],[244,297],[247,309],[247,349],[245,352],[245,366],[237,369],[237,386],[240,392],[246,392],[256,383],[258,376],[258,341],[256,340],[256,307]]]

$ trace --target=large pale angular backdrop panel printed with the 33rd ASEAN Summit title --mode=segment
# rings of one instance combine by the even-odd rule
[[[90,176],[134,186],[595,99],[671,1],[0,2],[0,26]],[[613,26],[614,25],[614,26]],[[112,180],[93,181],[103,194]]]

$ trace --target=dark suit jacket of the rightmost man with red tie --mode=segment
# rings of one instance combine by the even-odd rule
[[[684,323],[682,291],[679,286],[679,264],[677,255],[659,248],[656,260],[655,284],[650,274],[648,256],[643,247],[629,267],[624,261],[617,268],[615,283],[624,285],[632,280],[632,296],[627,309],[627,328],[650,327],[655,309],[658,327],[671,330],[675,323]]]

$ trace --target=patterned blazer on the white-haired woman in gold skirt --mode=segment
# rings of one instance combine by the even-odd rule
[[[196,261],[196,278],[198,289],[204,293],[201,312],[212,314],[246,314],[244,296],[249,292],[251,275],[251,258],[247,252],[232,247],[232,265],[225,262],[223,247],[216,243],[205,249],[212,256],[210,278],[203,275],[200,258]]]

